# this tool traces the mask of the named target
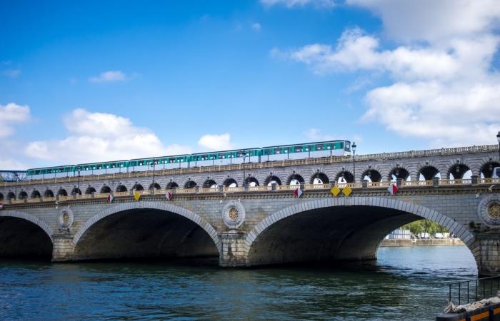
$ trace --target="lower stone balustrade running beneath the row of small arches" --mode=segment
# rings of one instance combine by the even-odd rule
[[[139,193],[141,195],[165,195],[168,192],[176,195],[199,195],[199,194],[209,194],[209,193],[254,193],[254,192],[263,192],[263,193],[274,193],[276,191],[292,191],[296,188],[301,188],[304,191],[310,190],[329,190],[334,185],[337,185],[339,188],[349,188],[353,190],[359,189],[367,189],[367,190],[376,190],[382,189],[385,190],[391,184],[397,184],[400,188],[439,188],[439,187],[470,187],[482,185],[496,185],[500,184],[500,178],[479,178],[474,182],[473,179],[456,179],[456,180],[403,180],[401,182],[361,182],[361,183],[336,183],[336,184],[301,184],[301,185],[264,185],[264,186],[237,186],[237,187],[222,187],[218,186],[217,188],[174,188],[172,190],[129,190],[126,192],[115,192],[112,193],[113,196],[116,197],[132,197],[134,193]],[[81,195],[68,195],[68,196],[54,196],[54,197],[43,197],[43,198],[23,198],[19,200],[3,200],[6,205],[16,205],[16,204],[24,204],[24,203],[50,203],[50,202],[64,202],[68,200],[90,200],[93,198],[107,198],[109,193],[91,193],[91,194],[81,194]]]

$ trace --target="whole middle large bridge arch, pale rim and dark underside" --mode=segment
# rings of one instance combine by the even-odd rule
[[[144,213],[144,215],[141,217],[141,213]],[[116,216],[116,215],[121,215],[121,216]],[[147,218],[147,215],[152,215],[150,216],[151,218],[154,218],[154,220],[151,220],[149,223],[145,219]],[[114,220],[115,218],[119,218],[119,220]],[[149,242],[149,245],[154,244],[155,246],[158,242],[163,244],[166,241],[169,240],[170,238],[179,237],[179,244],[182,246],[187,246],[189,245],[189,238],[193,238],[196,240],[206,240],[208,242],[207,244],[202,244],[199,246],[201,248],[201,251],[206,251],[208,248],[209,250],[211,248],[214,249],[213,255],[220,255],[221,254],[221,243],[219,240],[219,236],[217,235],[216,230],[208,223],[204,218],[201,218],[199,215],[197,215],[194,212],[191,212],[190,210],[186,210],[185,208],[181,208],[176,205],[172,205],[170,203],[165,203],[165,202],[158,202],[158,201],[151,201],[151,202],[137,202],[137,203],[120,203],[118,205],[114,205],[110,208],[107,208],[106,210],[102,210],[100,213],[97,213],[96,215],[92,216],[89,220],[86,220],[84,225],[81,226],[81,228],[76,232],[74,235],[74,238],[72,240],[72,243],[74,245],[74,259],[75,260],[86,260],[86,259],[104,259],[104,258],[141,258],[141,256],[136,256],[136,254],[127,254],[125,253],[127,250],[129,250],[128,245],[131,245],[132,247],[134,246],[133,243],[131,244],[125,244],[125,245],[110,245],[111,250],[114,250],[114,253],[111,253],[111,256],[106,256],[105,253],[91,253],[91,251],[88,250],[89,244],[92,246],[92,242],[100,242],[102,240],[105,240],[105,238],[110,234],[106,233],[106,230],[103,230],[104,225],[101,223],[106,223],[106,220],[111,220],[110,226],[113,226],[114,228],[117,228],[120,223],[124,224],[129,224],[131,226],[131,230],[125,230],[121,236],[122,239],[127,239],[131,240],[134,235],[131,236],[131,231],[137,231],[137,226],[138,224],[134,221],[136,219],[142,219],[144,218],[143,221],[141,221],[141,225],[150,225],[154,228],[158,228],[158,231],[163,231],[161,230],[163,228],[166,228],[167,232],[166,233],[150,233],[151,231],[149,230],[144,230],[142,234],[136,234],[135,237],[139,238],[139,242]],[[126,222],[127,219],[131,219],[129,223]],[[184,224],[183,226],[179,225],[178,223]],[[97,231],[97,232],[96,232]],[[116,232],[116,231],[110,231],[110,232]],[[98,235],[97,238],[91,239],[90,233],[94,233],[94,235]],[[100,234],[99,234],[100,233]],[[181,233],[184,233],[181,235]],[[174,235],[174,236],[172,236]],[[111,235],[112,237],[113,235]],[[148,238],[149,236],[152,236],[150,240],[146,240],[145,238]],[[196,243],[196,240],[191,242]],[[102,241],[104,242],[104,241]],[[183,243],[184,242],[184,243]],[[184,244],[184,245],[183,245]],[[104,248],[104,250],[109,250],[110,248],[107,247],[105,248],[103,244],[99,243],[99,248],[101,246]],[[115,248],[113,248],[115,246]],[[118,247],[118,250],[116,250],[116,246]],[[120,246],[122,252],[120,252]],[[173,246],[173,245],[172,245]],[[180,245],[179,245],[180,246]],[[141,243],[137,245],[137,247],[141,248]],[[131,249],[132,251],[137,250],[137,247],[135,249]],[[153,247],[151,247],[153,248]],[[141,248],[142,250],[142,248]],[[156,248],[158,250],[158,248]],[[170,249],[171,250],[171,249]],[[150,249],[150,252],[148,252],[149,255],[146,255],[148,257],[155,257],[155,256],[160,256],[158,254],[161,254],[157,252],[156,254],[154,253],[154,249]],[[91,254],[89,254],[91,253]],[[89,256],[90,255],[90,256]],[[94,255],[94,256],[92,256]],[[130,256],[129,256],[130,255]],[[144,257],[144,256],[143,256]]]

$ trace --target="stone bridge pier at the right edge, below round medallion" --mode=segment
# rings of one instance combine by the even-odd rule
[[[500,238],[498,233],[478,235],[479,241],[479,275],[500,274]]]

